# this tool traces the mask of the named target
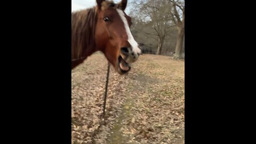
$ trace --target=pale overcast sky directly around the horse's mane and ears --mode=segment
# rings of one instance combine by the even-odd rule
[[[121,2],[121,0],[114,0],[115,3]],[[82,9],[87,9],[89,7],[95,6],[96,0],[71,0],[71,12],[78,11]],[[128,8],[129,4],[127,4]],[[125,9],[125,12],[129,12],[129,8]]]

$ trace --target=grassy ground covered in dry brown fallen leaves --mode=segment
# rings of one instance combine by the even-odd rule
[[[72,143],[185,143],[185,62],[141,55],[129,74],[110,68],[100,126],[107,60],[95,53],[72,70]]]

